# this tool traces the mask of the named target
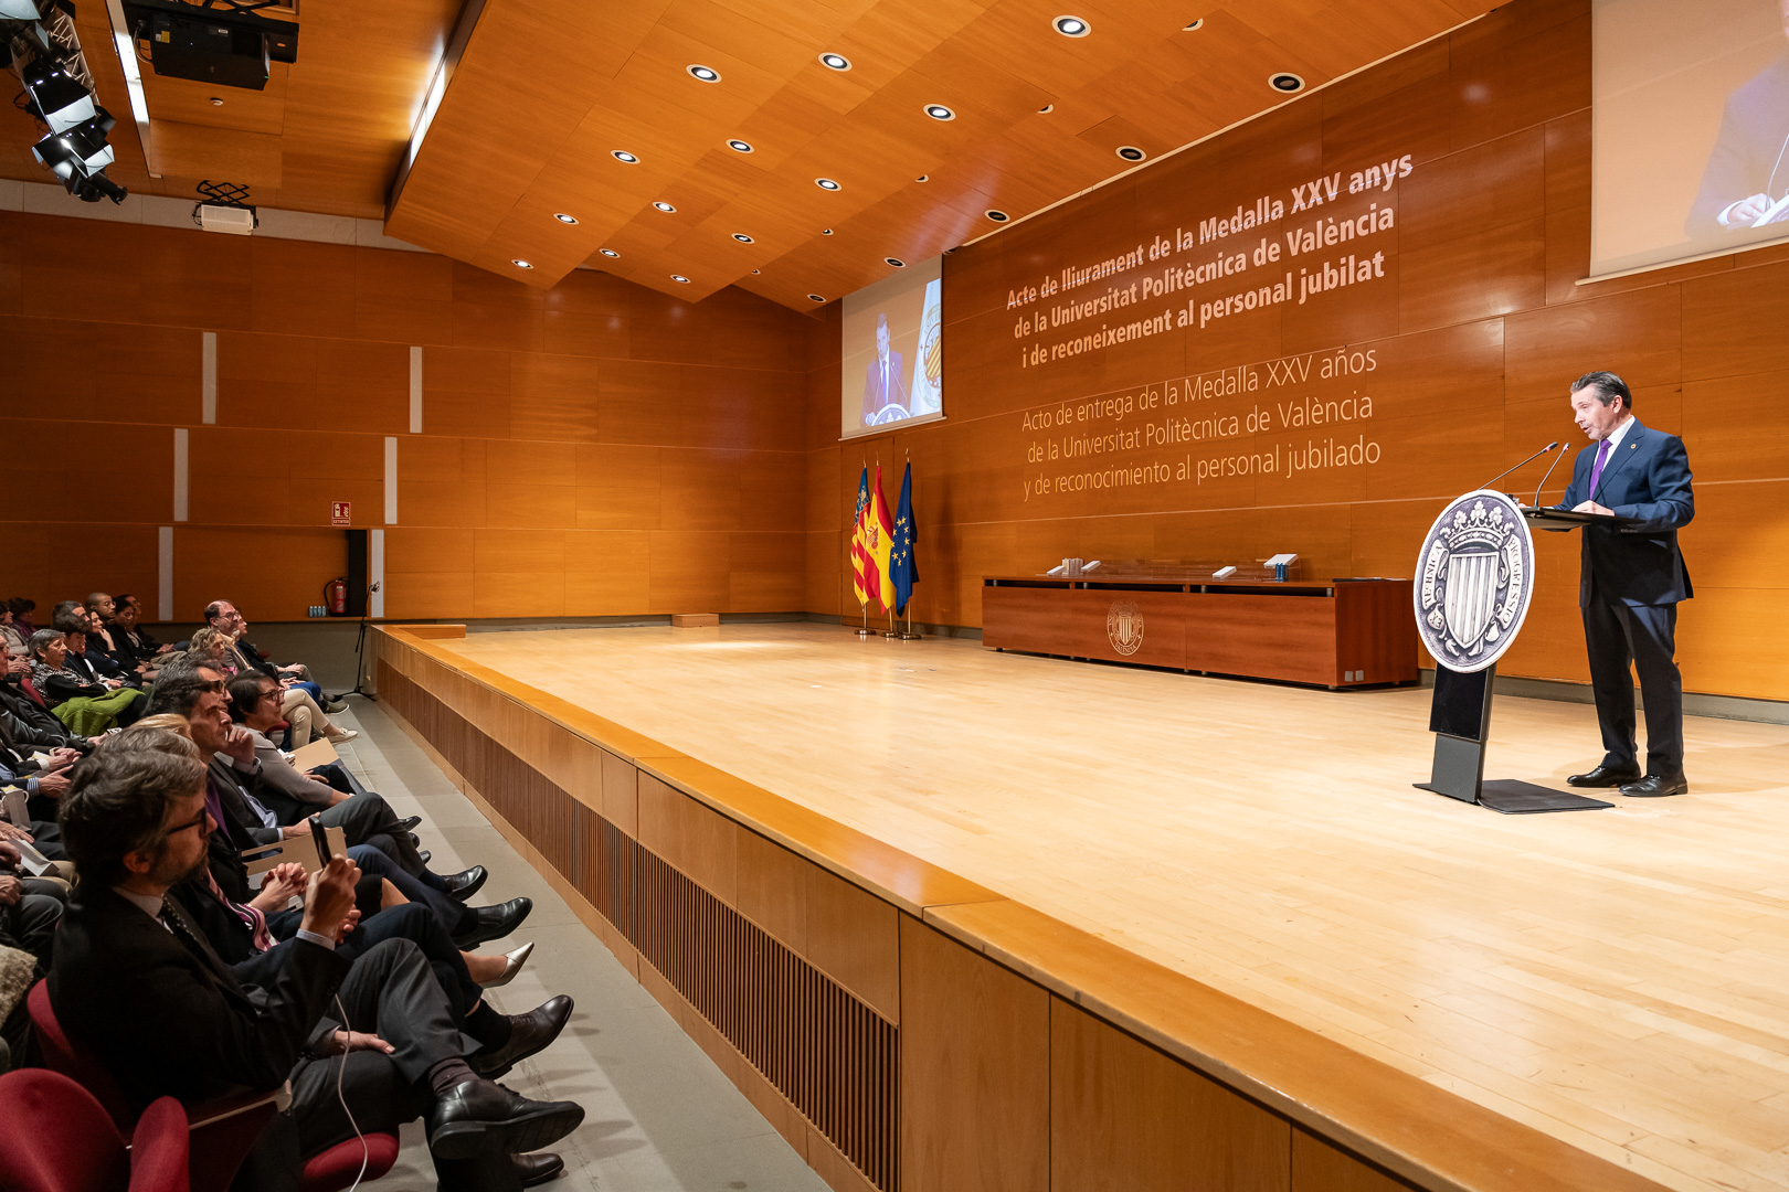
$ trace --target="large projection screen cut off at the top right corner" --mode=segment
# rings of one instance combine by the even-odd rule
[[[1596,0],[1590,275],[1789,238],[1789,0]]]

